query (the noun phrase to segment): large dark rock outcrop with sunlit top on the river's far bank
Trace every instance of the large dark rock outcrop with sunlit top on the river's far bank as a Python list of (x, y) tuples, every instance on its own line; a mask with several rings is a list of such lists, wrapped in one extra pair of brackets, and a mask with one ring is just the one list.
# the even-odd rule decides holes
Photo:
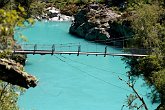
[(104, 5), (89, 4), (75, 15), (69, 32), (87, 40), (106, 40), (111, 36), (109, 22), (119, 17)]

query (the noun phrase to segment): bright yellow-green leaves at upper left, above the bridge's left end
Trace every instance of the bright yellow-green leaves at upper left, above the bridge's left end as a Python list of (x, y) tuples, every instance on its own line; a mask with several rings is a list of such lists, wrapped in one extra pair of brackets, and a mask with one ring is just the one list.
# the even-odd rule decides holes
[[(21, 8), (20, 8), (21, 9)], [(16, 10), (3, 10), (0, 9), (0, 48), (8, 48), (13, 45), (13, 33), (15, 26), (23, 27), (24, 18), (20, 17), (20, 14), (25, 14)]]

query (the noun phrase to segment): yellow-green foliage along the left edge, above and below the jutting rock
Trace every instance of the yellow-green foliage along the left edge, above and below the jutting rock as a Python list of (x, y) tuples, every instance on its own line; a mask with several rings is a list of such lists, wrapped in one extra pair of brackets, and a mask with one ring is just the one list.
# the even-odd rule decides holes
[[(27, 14), (23, 7), (14, 4), (14, 2), (8, 5), (8, 2), (7, 0), (0, 0), (0, 3), (3, 3), (0, 4), (0, 7), (3, 7), (0, 9), (0, 58), (11, 59), (10, 49), (15, 44), (13, 38), (15, 27), (26, 27), (24, 22), (33, 23), (33, 20), (25, 19)], [(15, 59), (17, 58), (15, 56)], [(18, 86), (0, 81), (0, 110), (18, 110), (17, 100), (23, 92), (24, 90)]]

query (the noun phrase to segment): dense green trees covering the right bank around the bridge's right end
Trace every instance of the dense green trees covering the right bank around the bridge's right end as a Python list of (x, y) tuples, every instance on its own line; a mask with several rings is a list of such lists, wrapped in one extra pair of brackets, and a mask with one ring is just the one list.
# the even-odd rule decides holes
[[(130, 47), (151, 51), (144, 58), (124, 58), (130, 76), (144, 76), (146, 82), (157, 92), (153, 93), (153, 102), (160, 98), (165, 105), (165, 25), (163, 1), (128, 1), (125, 20), (130, 22), (133, 40)], [(159, 97), (156, 97), (159, 96)]]

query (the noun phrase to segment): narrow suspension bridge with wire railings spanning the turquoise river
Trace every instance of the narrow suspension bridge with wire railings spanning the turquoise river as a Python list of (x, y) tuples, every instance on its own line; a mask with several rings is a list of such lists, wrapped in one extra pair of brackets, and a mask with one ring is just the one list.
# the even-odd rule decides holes
[[(79, 55), (102, 55), (102, 56), (132, 56), (132, 57), (146, 57), (148, 56), (146, 53), (146, 50), (144, 49), (129, 49), (127, 52), (114, 52), (108, 48), (108, 46), (103, 46), (103, 48), (100, 50), (93, 48), (86, 49), (86, 45), (81, 44), (75, 44), (75, 43), (68, 43), (68, 44), (52, 44), (52, 45), (46, 45), (46, 44), (21, 44), (20, 45), (22, 49), (17, 49), (16, 47), (12, 51), (14, 54), (40, 54), (40, 55), (54, 55), (54, 54), (75, 54), (77, 56)], [(128, 49), (125, 49), (128, 50)], [(131, 51), (130, 51), (131, 50)]]

